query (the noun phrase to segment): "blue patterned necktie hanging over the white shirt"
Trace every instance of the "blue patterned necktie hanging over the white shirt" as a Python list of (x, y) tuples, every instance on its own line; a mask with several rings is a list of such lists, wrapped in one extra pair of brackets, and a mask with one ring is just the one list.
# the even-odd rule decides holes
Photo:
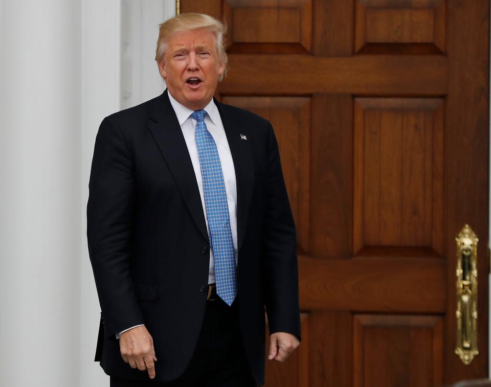
[(237, 294), (234, 242), (230, 229), (224, 175), (221, 172), (220, 157), (215, 140), (206, 128), (206, 114), (203, 109), (196, 110), (192, 113), (191, 118), (196, 120), (194, 137), (198, 148), (206, 214), (215, 259), (216, 293), (228, 305), (232, 305)]

